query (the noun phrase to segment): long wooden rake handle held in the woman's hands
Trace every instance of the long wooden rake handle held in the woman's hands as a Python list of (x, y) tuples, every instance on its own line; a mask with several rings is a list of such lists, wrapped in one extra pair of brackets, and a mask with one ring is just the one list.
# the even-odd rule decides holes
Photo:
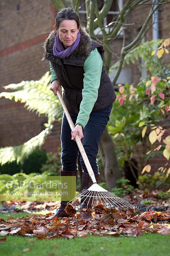
[[(67, 107), (66, 107), (66, 104), (65, 104), (65, 102), (64, 102), (64, 100), (63, 100), (63, 98), (62, 98), (62, 96), (61, 96), (61, 93), (60, 93), (59, 89), (56, 90), (56, 93), (57, 93), (57, 96), (58, 96), (58, 98), (59, 98), (59, 100), (60, 100), (61, 106), (62, 106), (62, 108), (63, 108), (63, 110), (64, 110), (64, 113), (65, 113), (65, 115), (66, 115), (66, 117), (67, 117), (67, 121), (68, 121), (68, 124), (70, 125), (71, 131), (73, 131), (74, 128), (75, 128), (75, 126), (74, 126), (74, 124), (73, 124), (73, 121), (72, 121), (72, 119), (71, 119), (71, 116), (70, 116), (70, 114), (69, 114), (69, 112), (68, 112), (68, 109), (67, 109)], [(88, 171), (88, 173), (89, 173), (89, 175), (90, 175), (90, 178), (91, 178), (92, 182), (93, 182), (93, 183), (97, 183), (97, 182), (96, 182), (95, 175), (94, 175), (94, 172), (93, 172), (93, 169), (91, 168), (89, 159), (88, 159), (88, 157), (87, 157), (87, 155), (86, 155), (86, 152), (85, 152), (85, 150), (84, 150), (84, 148), (83, 148), (83, 145), (82, 145), (82, 143), (81, 143), (81, 140), (80, 140), (80, 137), (79, 137), (78, 134), (75, 135), (75, 141), (76, 141), (77, 146), (78, 146), (78, 148), (79, 148), (79, 150), (80, 150), (81, 156), (82, 156), (82, 158), (83, 158), (84, 164), (86, 165), (87, 171)], [(92, 176), (92, 175), (93, 175), (93, 176)]]

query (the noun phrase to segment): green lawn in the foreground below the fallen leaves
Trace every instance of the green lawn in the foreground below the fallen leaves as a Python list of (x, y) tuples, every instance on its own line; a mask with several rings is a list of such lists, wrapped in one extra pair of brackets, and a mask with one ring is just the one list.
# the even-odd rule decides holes
[[(0, 214), (7, 219), (7, 214)], [(26, 216), (27, 213), (11, 214), (14, 217)], [(134, 237), (88, 236), (73, 239), (54, 238), (36, 240), (23, 236), (8, 236), (6, 243), (0, 244), (3, 256), (166, 256), (169, 253), (169, 236), (159, 234), (143, 234)], [(27, 252), (22, 250), (29, 248)]]

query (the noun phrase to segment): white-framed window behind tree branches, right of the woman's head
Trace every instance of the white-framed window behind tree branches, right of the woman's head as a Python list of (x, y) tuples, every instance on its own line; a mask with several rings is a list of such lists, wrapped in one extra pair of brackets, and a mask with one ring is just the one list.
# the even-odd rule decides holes
[[(98, 10), (101, 11), (104, 4), (104, 0), (97, 0)], [(110, 7), (110, 11), (108, 12), (107, 17), (104, 19), (103, 26), (109, 25), (110, 22), (113, 21), (115, 16), (119, 14), (119, 10), (121, 11), (123, 8), (123, 0), (113, 0), (112, 5)], [(80, 0), (80, 10), (79, 15), (81, 18), (82, 25), (86, 26), (86, 7), (85, 7), (85, 0)], [(109, 27), (105, 28), (105, 31), (109, 32)], [(102, 31), (100, 28), (95, 29), (95, 35), (102, 35)]]

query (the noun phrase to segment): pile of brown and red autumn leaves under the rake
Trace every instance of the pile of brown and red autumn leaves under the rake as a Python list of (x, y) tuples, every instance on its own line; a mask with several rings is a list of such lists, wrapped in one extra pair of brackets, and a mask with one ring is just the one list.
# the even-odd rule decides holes
[[(87, 235), (140, 236), (144, 232), (170, 235), (170, 213), (168, 212), (135, 212), (134, 209), (106, 208), (98, 204), (89, 220), (83, 219), (81, 213), (76, 213), (70, 204), (66, 209), (70, 217), (55, 217), (46, 220), (51, 213), (43, 215), (27, 215), (27, 217), (10, 217), (5, 221), (0, 219), (0, 242), (5, 242), (8, 235), (21, 235), (37, 239), (64, 237), (74, 238)], [(88, 210), (84, 210), (86, 212)]]

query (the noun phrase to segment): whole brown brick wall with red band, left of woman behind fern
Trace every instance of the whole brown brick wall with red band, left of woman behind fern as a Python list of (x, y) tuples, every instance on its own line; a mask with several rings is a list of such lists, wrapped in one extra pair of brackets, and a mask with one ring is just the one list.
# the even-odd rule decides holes
[[(50, 0), (1, 1), (0, 92), (2, 86), (22, 80), (38, 80), (49, 70), (43, 60), (43, 43), (52, 30), (56, 10)], [(2, 36), (3, 35), (3, 36)], [(0, 99), (0, 146), (20, 145), (45, 129), (46, 117), (38, 117), (24, 104)], [(60, 123), (42, 148), (55, 152), (60, 146)]]

